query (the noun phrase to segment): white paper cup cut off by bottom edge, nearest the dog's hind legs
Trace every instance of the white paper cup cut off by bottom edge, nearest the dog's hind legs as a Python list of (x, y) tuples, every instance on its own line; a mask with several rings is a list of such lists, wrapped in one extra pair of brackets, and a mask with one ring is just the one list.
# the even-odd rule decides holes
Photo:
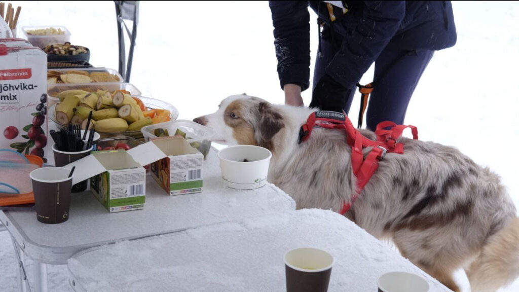
[(378, 278), (378, 292), (427, 292), (424, 278), (407, 272), (389, 272)]

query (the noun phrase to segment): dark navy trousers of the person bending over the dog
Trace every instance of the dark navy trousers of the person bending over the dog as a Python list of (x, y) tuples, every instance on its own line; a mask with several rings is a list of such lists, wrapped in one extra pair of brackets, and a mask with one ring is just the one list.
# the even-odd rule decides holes
[[(334, 38), (330, 38), (330, 31), (323, 31), (323, 38), (321, 39), (322, 58), (316, 58), (313, 73), (312, 86), (314, 88), (325, 73), (326, 66), (338, 51), (341, 41), (340, 35), (335, 34)], [(433, 54), (433, 50), (404, 51), (393, 48), (386, 48), (380, 53), (375, 60), (373, 78), (375, 82), (366, 110), (366, 128), (375, 130), (377, 124), (384, 121), (391, 121), (398, 125), (404, 124), (409, 100), (411, 100), (416, 85)], [(360, 95), (357, 87), (352, 88), (349, 94), (344, 97), (346, 114), (350, 111), (351, 102), (356, 92)], [(359, 110), (359, 108), (360, 103), (356, 110)]]

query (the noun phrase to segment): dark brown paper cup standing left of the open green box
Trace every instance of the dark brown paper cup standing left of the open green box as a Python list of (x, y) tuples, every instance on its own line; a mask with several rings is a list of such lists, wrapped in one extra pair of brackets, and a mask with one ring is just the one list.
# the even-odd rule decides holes
[(62, 167), (42, 167), (31, 171), (36, 218), (55, 224), (69, 219), (72, 177)]

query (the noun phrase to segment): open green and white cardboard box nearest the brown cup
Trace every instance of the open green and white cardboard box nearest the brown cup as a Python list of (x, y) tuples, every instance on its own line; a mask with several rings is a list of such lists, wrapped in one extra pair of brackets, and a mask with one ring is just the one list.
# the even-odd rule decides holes
[(106, 169), (90, 178), (90, 190), (99, 202), (110, 213), (144, 208), (146, 169), (124, 150), (91, 155)]

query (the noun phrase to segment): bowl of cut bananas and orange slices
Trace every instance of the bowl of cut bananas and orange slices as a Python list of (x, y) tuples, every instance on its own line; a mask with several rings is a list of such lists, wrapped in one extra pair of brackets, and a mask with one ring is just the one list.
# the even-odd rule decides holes
[(101, 139), (124, 135), (144, 141), (142, 127), (174, 121), (179, 116), (179, 111), (165, 101), (132, 96), (125, 90), (67, 91), (60, 92), (59, 102), (49, 108), (50, 120), (60, 129), (69, 124), (87, 129), (88, 124)]

